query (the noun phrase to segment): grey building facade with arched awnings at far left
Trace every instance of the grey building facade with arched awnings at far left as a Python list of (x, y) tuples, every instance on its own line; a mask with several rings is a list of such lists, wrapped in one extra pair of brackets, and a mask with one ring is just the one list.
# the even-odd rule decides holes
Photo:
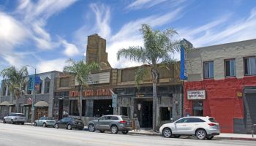
[[(4, 118), (9, 112), (20, 112), (26, 115), (26, 122), (31, 122), (31, 117), (34, 115), (35, 120), (42, 116), (53, 116), (53, 93), (55, 79), (59, 76), (59, 72), (45, 72), (37, 74), (39, 83), (35, 90), (34, 112), (32, 109), (32, 100), (34, 91), (29, 91), (29, 82), (23, 85), (25, 94), (20, 96), (17, 103), (15, 98), (10, 94), (8, 86), (1, 83), (0, 96), (0, 118)], [(29, 77), (27, 77), (29, 80)], [(16, 106), (18, 104), (18, 106)], [(18, 110), (15, 108), (18, 107)]]

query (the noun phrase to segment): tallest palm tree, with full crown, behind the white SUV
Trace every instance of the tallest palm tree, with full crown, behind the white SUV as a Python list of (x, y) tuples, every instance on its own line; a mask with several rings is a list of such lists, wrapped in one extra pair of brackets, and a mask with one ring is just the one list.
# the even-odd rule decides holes
[[(118, 50), (117, 59), (128, 58), (142, 64), (135, 72), (135, 82), (138, 85), (145, 77), (148, 67), (151, 71), (153, 83), (153, 130), (157, 130), (157, 80), (159, 78), (158, 68), (167, 67), (167, 64), (175, 62), (171, 57), (179, 51), (179, 42), (171, 40), (177, 32), (173, 29), (165, 31), (152, 30), (151, 26), (143, 24), (141, 29), (143, 34), (144, 47), (135, 46)], [(147, 67), (148, 66), (148, 67)]]

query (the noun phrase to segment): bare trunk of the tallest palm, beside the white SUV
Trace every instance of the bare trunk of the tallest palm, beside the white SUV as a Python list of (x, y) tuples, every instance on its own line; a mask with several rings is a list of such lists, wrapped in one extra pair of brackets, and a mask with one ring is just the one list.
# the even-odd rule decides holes
[(153, 79), (153, 131), (157, 131), (157, 70), (152, 69)]

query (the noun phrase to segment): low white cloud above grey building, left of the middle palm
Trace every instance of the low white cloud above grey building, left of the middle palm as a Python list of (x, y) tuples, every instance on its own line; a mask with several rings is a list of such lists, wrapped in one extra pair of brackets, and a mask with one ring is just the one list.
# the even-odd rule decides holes
[(67, 58), (57, 58), (50, 61), (40, 61), (37, 64), (37, 70), (41, 72), (60, 71), (62, 72), (66, 65)]

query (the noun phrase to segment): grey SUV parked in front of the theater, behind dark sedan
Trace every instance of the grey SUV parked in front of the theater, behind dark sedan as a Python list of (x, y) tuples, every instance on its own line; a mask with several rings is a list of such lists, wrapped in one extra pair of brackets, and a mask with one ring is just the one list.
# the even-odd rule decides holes
[(99, 130), (103, 133), (110, 130), (113, 134), (117, 134), (118, 131), (128, 134), (132, 130), (132, 121), (124, 115), (104, 115), (98, 120), (90, 121), (88, 128), (91, 132)]

